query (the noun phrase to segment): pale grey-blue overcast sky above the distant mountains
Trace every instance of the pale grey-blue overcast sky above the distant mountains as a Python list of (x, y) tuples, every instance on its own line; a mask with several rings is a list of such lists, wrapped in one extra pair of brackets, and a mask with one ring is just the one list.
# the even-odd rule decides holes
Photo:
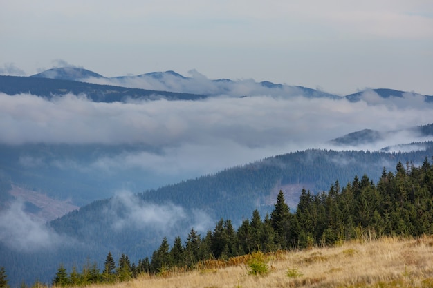
[(346, 95), (433, 95), (433, 2), (0, 0), (0, 74), (195, 69)]

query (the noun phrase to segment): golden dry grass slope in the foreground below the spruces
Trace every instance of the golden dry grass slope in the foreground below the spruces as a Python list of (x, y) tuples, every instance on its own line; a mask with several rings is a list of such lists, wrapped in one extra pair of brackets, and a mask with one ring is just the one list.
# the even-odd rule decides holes
[(243, 257), (230, 264), (220, 262), (164, 277), (141, 276), (109, 288), (433, 287), (433, 236), (383, 238), (363, 244), (353, 241), (340, 247), (273, 253), (268, 255), (267, 276), (248, 275), (247, 260)]

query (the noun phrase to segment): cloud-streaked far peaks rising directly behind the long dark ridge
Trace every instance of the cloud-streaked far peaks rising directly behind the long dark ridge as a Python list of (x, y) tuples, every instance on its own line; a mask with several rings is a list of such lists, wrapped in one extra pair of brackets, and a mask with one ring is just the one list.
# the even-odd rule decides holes
[(304, 96), (327, 97), (341, 99), (342, 97), (325, 93), (319, 90), (302, 86), (288, 86), (285, 84), (274, 84), (270, 81), (256, 82), (248, 80), (231, 79), (207, 79), (196, 71), (192, 77), (185, 77), (172, 70), (165, 72), (151, 72), (136, 76), (104, 77), (83, 68), (53, 68), (31, 77), (42, 77), (49, 79), (62, 79), (71, 81), (84, 81), (93, 84), (110, 84), (128, 88), (145, 88), (150, 90), (164, 90), (176, 93), (193, 93), (199, 95), (230, 95), (234, 97), (273, 95), (273, 96)]

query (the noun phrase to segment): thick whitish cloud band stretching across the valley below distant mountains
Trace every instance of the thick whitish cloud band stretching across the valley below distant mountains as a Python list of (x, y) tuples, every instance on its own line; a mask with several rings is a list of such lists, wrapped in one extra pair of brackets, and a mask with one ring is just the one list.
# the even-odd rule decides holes
[[(101, 156), (86, 167), (61, 160), (50, 165), (107, 173), (144, 169), (166, 176), (168, 181), (306, 148), (374, 151), (410, 143), (420, 140), (419, 135), (403, 131), (356, 147), (328, 142), (365, 128), (385, 132), (432, 122), (433, 104), (419, 95), (383, 99), (370, 91), (362, 99), (349, 102), (264, 95), (108, 104), (91, 102), (85, 95), (69, 94), (48, 101), (28, 94), (1, 94), (0, 141), (12, 145), (145, 144), (154, 148)], [(20, 161), (33, 166), (42, 163), (25, 157)]]

